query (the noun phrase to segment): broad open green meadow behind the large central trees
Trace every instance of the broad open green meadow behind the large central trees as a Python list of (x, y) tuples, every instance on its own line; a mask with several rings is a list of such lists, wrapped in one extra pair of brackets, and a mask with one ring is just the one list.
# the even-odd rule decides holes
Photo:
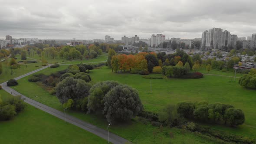
[[(223, 75), (225, 74), (223, 72)], [(144, 79), (141, 75), (115, 73), (106, 67), (95, 69), (90, 75), (93, 83), (115, 80), (137, 89), (147, 111), (158, 112), (165, 105), (176, 105), (180, 101), (208, 101), (233, 105), (244, 111), (245, 123), (237, 128), (220, 125), (212, 127), (256, 138), (256, 91), (241, 87), (238, 79), (234, 82), (233, 78), (214, 75), (204, 75), (203, 79)]]

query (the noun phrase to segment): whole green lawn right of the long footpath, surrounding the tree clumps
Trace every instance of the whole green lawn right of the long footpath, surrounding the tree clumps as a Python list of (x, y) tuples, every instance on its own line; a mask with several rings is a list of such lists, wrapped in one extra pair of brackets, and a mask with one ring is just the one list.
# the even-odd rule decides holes
[[(40, 72), (50, 74), (51, 72), (56, 72), (61, 69), (66, 69), (66, 67), (60, 66), (56, 69), (47, 68)], [(230, 90), (230, 88), (233, 89), (233, 86), (236, 86), (237, 88), (240, 88), (240, 90), (243, 92), (247, 91), (246, 89), (241, 88), (236, 82), (232, 82), (232, 78), (207, 75), (203, 79), (151, 79), (153, 93), (150, 94), (150, 79), (144, 79), (141, 75), (116, 74), (113, 73), (110, 69), (107, 69), (106, 67), (103, 67), (102, 69), (94, 69), (89, 74), (92, 77), (93, 83), (112, 79), (136, 88), (139, 92), (144, 108), (146, 110), (155, 112), (163, 108), (164, 105), (177, 104), (177, 102), (179, 101), (186, 100), (207, 100), (209, 102), (223, 102), (233, 104), (237, 108), (241, 108), (241, 105), (238, 106), (238, 103), (240, 104), (241, 100), (229, 98), (228, 96), (223, 99), (223, 95), (220, 95), (219, 92), (217, 92), (216, 94), (215, 91), (218, 91), (220, 87), (228, 85), (230, 85), (228, 86), (228, 90)], [(39, 101), (45, 105), (49, 105), (61, 111), (63, 110), (58, 98), (50, 95), (46, 90), (41, 88), (36, 83), (28, 82), (27, 78), (28, 77), (18, 80), (19, 85), (13, 88), (16, 89), (18, 92), (30, 98), (33, 98), (36, 101)], [(30, 90), (28, 90), (27, 88), (33, 89), (33, 92), (30, 92)], [(240, 92), (240, 94), (243, 92)], [(251, 93), (252, 96), (252, 92), (254, 91), (248, 93)], [(232, 92), (231, 95), (234, 93), (235, 92)], [(223, 126), (213, 127), (220, 128), (222, 130), (232, 131), (234, 133), (239, 132), (239, 134), (241, 135), (248, 135), (253, 137), (253, 134), (255, 134), (256, 131), (254, 129), (255, 125), (253, 124), (253, 122), (255, 121), (253, 118), (255, 118), (255, 116), (252, 115), (252, 105), (253, 102), (251, 101), (249, 106), (242, 108), (243, 111), (245, 111), (246, 113), (246, 124), (243, 124), (243, 126), (240, 126), (236, 129)], [(100, 116), (85, 115), (82, 112), (75, 111), (69, 111), (69, 114), (89, 123), (95, 124), (100, 128), (107, 128), (107, 121), (105, 121), (105, 118), (102, 118)], [(164, 131), (159, 133), (154, 138), (153, 131), (158, 131), (158, 128), (151, 126), (151, 124), (142, 124), (140, 121), (138, 121), (137, 118), (133, 119), (133, 121), (128, 124), (112, 125), (110, 131), (135, 143), (156, 143), (157, 141), (163, 141), (163, 143), (167, 141), (175, 141), (176, 143), (181, 143), (182, 141), (185, 141), (185, 143), (195, 144), (210, 143), (207, 139), (199, 137), (191, 132), (181, 134), (181, 130), (176, 128), (164, 128)], [(171, 139), (169, 137), (168, 133), (170, 131), (174, 133), (174, 139)], [(245, 132), (245, 134), (243, 134), (243, 132)], [(184, 139), (182, 135), (186, 135)], [(214, 141), (211, 142), (214, 143)]]

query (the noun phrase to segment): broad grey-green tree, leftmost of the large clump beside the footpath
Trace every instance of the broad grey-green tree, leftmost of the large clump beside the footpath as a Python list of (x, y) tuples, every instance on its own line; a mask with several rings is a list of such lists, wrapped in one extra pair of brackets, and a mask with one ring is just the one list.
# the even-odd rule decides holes
[(62, 104), (66, 103), (69, 99), (77, 102), (89, 95), (91, 87), (90, 83), (82, 79), (67, 77), (56, 86), (56, 96)]

